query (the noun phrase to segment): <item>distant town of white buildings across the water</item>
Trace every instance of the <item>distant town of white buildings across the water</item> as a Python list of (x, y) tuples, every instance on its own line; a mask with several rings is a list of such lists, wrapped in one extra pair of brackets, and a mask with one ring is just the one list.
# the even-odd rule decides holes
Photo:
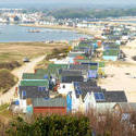
[[(132, 16), (118, 17), (118, 20), (127, 20)], [(133, 18), (136, 18), (133, 16)], [(57, 18), (44, 11), (29, 11), (24, 9), (0, 9), (0, 23), (9, 24), (37, 24), (37, 25), (65, 25), (71, 27), (91, 27), (92, 22), (114, 21), (115, 17), (96, 18), (96, 17), (65, 17)], [(89, 24), (89, 22), (91, 22)]]

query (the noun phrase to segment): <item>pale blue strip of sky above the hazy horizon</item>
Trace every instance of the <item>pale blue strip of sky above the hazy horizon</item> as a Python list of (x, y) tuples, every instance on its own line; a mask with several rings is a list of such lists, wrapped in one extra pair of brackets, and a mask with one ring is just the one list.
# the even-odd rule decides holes
[[(15, 7), (15, 8), (21, 8), (25, 4), (25, 7), (32, 8), (32, 7), (46, 7), (47, 4), (52, 4), (53, 7), (64, 7), (64, 5), (108, 5), (108, 7), (123, 7), (127, 5), (136, 8), (136, 0), (0, 0), (0, 8), (4, 7)], [(99, 8), (99, 7), (98, 7)]]

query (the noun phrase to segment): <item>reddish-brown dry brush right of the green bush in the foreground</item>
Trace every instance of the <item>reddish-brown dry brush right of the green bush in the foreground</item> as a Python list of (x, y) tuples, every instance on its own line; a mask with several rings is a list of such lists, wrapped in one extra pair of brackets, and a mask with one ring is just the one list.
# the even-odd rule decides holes
[(95, 110), (90, 110), (87, 114), (96, 136), (136, 136), (135, 112), (129, 113), (126, 120), (123, 120), (122, 115), (110, 111), (97, 113)]

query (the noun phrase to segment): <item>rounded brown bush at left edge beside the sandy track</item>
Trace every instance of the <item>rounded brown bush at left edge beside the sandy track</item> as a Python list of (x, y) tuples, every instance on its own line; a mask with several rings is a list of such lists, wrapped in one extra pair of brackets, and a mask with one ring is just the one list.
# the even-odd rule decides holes
[(0, 70), (0, 89), (5, 92), (16, 84), (16, 78), (9, 70)]

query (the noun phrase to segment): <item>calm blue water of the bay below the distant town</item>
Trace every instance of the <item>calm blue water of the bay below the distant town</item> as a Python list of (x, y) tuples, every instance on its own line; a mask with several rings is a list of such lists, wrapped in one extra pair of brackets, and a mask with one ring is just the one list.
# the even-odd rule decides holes
[[(28, 29), (40, 29), (40, 33), (28, 33)], [(81, 37), (87, 38), (88, 36), (71, 30), (0, 24), (0, 42), (72, 40)]]

